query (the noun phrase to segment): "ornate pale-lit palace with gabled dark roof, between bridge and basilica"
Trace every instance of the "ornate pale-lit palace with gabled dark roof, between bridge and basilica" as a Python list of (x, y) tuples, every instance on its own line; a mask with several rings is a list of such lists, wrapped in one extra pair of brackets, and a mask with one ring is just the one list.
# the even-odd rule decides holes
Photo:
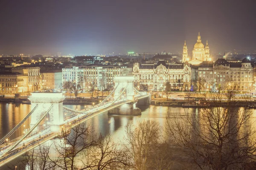
[(162, 90), (166, 81), (170, 81), (172, 88), (188, 89), (191, 79), (191, 68), (188, 62), (183, 64), (166, 63), (160, 59), (154, 64), (134, 63), (134, 78), (151, 90)]

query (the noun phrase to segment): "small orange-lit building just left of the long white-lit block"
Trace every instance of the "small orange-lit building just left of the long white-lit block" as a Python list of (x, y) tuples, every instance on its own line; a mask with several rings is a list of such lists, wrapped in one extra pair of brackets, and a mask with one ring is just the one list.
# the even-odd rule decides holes
[(45, 89), (62, 89), (62, 72), (44, 71), (41, 73), (42, 88)]

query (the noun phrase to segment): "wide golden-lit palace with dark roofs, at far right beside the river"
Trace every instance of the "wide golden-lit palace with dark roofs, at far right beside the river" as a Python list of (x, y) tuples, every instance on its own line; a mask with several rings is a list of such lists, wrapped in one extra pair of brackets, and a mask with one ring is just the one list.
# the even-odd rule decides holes
[(255, 67), (248, 59), (242, 62), (228, 62), (221, 58), (213, 65), (200, 66), (198, 78), (205, 79), (204, 90), (214, 90), (217, 85), (224, 83), (235, 84), (240, 91), (253, 91)]

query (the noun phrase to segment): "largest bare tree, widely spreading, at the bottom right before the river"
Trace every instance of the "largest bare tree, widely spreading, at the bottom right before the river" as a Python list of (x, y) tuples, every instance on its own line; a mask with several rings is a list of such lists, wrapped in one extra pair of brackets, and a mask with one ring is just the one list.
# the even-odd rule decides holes
[(198, 114), (173, 114), (166, 123), (169, 142), (200, 169), (243, 169), (256, 160), (252, 111), (234, 107), (235, 91), (233, 87), (225, 94), (211, 93), (212, 108), (201, 109)]

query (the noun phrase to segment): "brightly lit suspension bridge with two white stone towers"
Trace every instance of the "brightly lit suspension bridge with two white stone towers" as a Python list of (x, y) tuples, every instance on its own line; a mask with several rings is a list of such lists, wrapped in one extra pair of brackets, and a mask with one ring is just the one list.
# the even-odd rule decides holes
[(134, 77), (115, 77), (114, 82), (113, 91), (102, 102), (81, 111), (64, 107), (63, 93), (32, 93), (31, 112), (0, 139), (0, 167), (94, 116), (125, 104), (132, 111), (139, 99), (150, 97), (134, 88)]

